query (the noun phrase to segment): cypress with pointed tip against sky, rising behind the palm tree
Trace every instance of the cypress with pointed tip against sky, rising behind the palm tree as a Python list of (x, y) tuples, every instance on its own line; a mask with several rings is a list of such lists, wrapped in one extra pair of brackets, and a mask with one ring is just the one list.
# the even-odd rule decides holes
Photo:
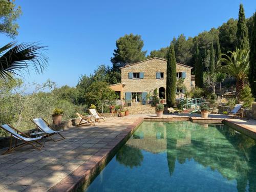
[(248, 38), (248, 29), (245, 20), (244, 7), (240, 4), (239, 16), (238, 16), (238, 49), (248, 49), (249, 48), (249, 38)]

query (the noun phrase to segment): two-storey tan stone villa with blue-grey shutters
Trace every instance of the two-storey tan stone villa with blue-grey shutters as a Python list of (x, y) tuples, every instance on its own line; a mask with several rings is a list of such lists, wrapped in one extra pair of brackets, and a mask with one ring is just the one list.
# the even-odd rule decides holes
[[(165, 99), (167, 60), (150, 58), (131, 65), (121, 67), (121, 83), (112, 84), (114, 90), (122, 100), (146, 102), (147, 93), (153, 94), (157, 88), (159, 98)], [(177, 79), (184, 78), (184, 86), (189, 91), (194, 86), (191, 79), (192, 67), (176, 63)], [(184, 89), (177, 89), (177, 97), (183, 96)]]

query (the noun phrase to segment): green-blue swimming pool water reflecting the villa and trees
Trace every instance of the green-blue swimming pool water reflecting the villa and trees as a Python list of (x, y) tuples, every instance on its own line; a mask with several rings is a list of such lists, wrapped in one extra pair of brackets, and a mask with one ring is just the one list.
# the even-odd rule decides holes
[(86, 191), (256, 191), (256, 142), (223, 124), (143, 122)]

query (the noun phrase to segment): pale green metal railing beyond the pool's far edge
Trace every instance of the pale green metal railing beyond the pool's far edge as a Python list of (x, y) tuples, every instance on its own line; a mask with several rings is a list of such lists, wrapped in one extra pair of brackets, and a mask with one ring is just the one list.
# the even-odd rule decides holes
[(197, 111), (201, 110), (201, 104), (204, 104), (205, 100), (201, 98), (195, 98), (195, 99), (183, 99), (180, 100), (180, 106), (183, 111), (183, 109), (190, 109), (191, 111)]

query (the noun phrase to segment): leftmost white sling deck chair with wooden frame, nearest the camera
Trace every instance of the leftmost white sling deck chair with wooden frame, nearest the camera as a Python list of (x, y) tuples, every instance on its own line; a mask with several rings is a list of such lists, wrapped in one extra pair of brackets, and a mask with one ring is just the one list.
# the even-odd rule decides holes
[[(36, 138), (31, 138), (28, 135), (22, 133), (21, 131), (18, 131), (17, 129), (15, 129), (14, 127), (12, 127), (9, 124), (3, 124), (3, 125), (0, 125), (0, 127), (3, 130), (5, 130), (11, 134), (9, 148), (2, 155), (6, 154), (6, 153), (10, 153), (13, 150), (20, 148), (22, 146), (25, 146), (27, 144), (33, 146), (36, 150), (41, 150), (41, 148), (44, 146), (43, 144), (38, 142), (42, 138), (42, 136), (36, 137)], [(22, 135), (24, 135), (24, 136), (22, 136)], [(12, 138), (13, 137), (15, 138), (15, 146), (14, 147), (12, 147)], [(23, 142), (17, 145), (17, 140), (21, 140)], [(39, 144), (41, 146), (37, 147), (36, 145), (33, 144), (33, 142), (36, 142), (37, 144)]]

